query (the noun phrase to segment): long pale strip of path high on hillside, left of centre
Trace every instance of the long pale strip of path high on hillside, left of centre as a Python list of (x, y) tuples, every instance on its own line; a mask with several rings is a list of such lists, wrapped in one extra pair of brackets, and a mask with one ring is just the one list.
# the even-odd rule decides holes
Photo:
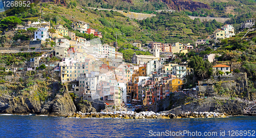
[[(107, 11), (112, 10), (112, 9), (102, 9), (102, 8), (93, 8), (93, 7), (87, 7), (87, 8), (98, 9), (98, 10), (107, 10)], [(156, 16), (156, 14), (145, 14), (145, 13), (136, 13), (136, 12), (127, 12), (127, 13), (125, 13), (123, 11), (118, 11), (118, 10), (112, 10), (112, 11), (119, 12), (119, 13), (123, 14), (126, 17), (137, 19), (137, 20), (142, 20), (142, 19), (146, 19), (147, 17)]]

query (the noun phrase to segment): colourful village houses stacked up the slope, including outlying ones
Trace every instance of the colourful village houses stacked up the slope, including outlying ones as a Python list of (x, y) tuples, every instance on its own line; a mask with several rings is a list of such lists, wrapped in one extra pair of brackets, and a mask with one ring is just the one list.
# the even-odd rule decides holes
[[(190, 43), (151, 42), (148, 47), (152, 49), (153, 56), (134, 53), (133, 64), (129, 64), (123, 62), (123, 55), (116, 51), (116, 47), (101, 43), (91, 44), (90, 41), (75, 36), (75, 33), (69, 32), (61, 24), (54, 27), (56, 32), (51, 36), (48, 32), (49, 22), (27, 24), (27, 27), (31, 26), (40, 26), (34, 32), (34, 40), (45, 41), (47, 38), (55, 37), (52, 40), (56, 45), (54, 51), (31, 58), (27, 70), (35, 70), (36, 67), (45, 64), (42, 58), (56, 56), (62, 59), (57, 64), (47, 66), (59, 71), (61, 82), (68, 83), (72, 91), (82, 96), (84, 100), (100, 99), (107, 104), (133, 102), (151, 105), (169, 96), (170, 93), (181, 91), (183, 78), (194, 73), (186, 62), (181, 64), (166, 62), (177, 59), (175, 53), (187, 53), (193, 49)], [(24, 26), (17, 27), (27, 29)], [(100, 32), (89, 28), (89, 23), (77, 21), (72, 23), (72, 27), (80, 33), (93, 33), (94, 36), (102, 37)], [(232, 25), (224, 25), (223, 31), (224, 37), (230, 37), (231, 35), (227, 35), (225, 31), (231, 33)], [(71, 40), (63, 36), (69, 36)], [(209, 39), (201, 39), (197, 40), (196, 45), (208, 43)], [(134, 43), (134, 46), (140, 48), (141, 44)], [(167, 53), (167, 56), (160, 57), (160, 53)], [(215, 54), (207, 54), (203, 59), (214, 62)], [(222, 70), (224, 73), (230, 71), (230, 67), (226, 65), (219, 65), (214, 69)]]

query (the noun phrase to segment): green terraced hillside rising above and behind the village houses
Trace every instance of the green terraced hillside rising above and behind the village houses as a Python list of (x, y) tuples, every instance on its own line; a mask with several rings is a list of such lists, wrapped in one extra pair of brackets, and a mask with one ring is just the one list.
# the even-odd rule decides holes
[[(197, 18), (192, 20), (187, 16), (190, 14), (199, 15), (199, 13), (200, 16), (203, 16), (210, 14), (209, 10), (212, 9), (209, 9), (208, 11), (202, 9), (200, 12), (191, 12), (188, 10), (180, 12), (154, 12), (156, 14), (154, 17), (144, 20), (132, 20), (116, 11), (86, 8), (84, 7), (86, 6), (83, 3), (84, 1), (44, 2), (45, 3), (39, 3), (30, 9), (15, 8), (9, 10), (6, 14), (2, 13), (0, 17), (3, 19), (6, 15), (14, 15), (22, 19), (22, 21), (24, 21), (23, 24), (26, 21), (33, 22), (38, 19), (51, 21), (52, 26), (61, 23), (70, 31), (75, 32), (77, 36), (87, 38), (88, 40), (93, 39), (94, 37), (84, 36), (72, 29), (72, 22), (81, 20), (90, 23), (91, 28), (102, 32), (102, 43), (112, 45), (113, 42), (116, 41), (117, 37), (119, 47), (128, 49), (138, 49), (137, 47), (132, 46), (132, 43), (135, 41), (140, 41), (142, 44), (146, 44), (151, 41), (159, 41), (163, 43), (184, 42), (194, 44), (197, 39), (206, 38), (207, 35), (211, 34), (223, 25), (223, 23), (217, 22), (216, 20), (200, 21)], [(105, 4), (106, 2), (102, 1), (102, 3)], [(141, 3), (138, 1), (138, 3), (134, 5), (139, 6), (140, 4)], [(212, 5), (219, 7), (220, 5), (222, 6), (225, 4), (212, 3)], [(240, 27), (240, 23), (249, 17), (253, 17), (253, 14), (244, 13), (236, 17), (232, 16), (231, 20), (228, 20), (227, 23), (233, 24), (236, 29), (238, 29)], [(133, 53), (123, 49), (119, 51), (123, 52), (124, 55), (127, 53)], [(137, 54), (150, 54), (142, 51), (134, 52)], [(126, 62), (130, 62), (130, 58), (130, 54), (124, 56)]]

